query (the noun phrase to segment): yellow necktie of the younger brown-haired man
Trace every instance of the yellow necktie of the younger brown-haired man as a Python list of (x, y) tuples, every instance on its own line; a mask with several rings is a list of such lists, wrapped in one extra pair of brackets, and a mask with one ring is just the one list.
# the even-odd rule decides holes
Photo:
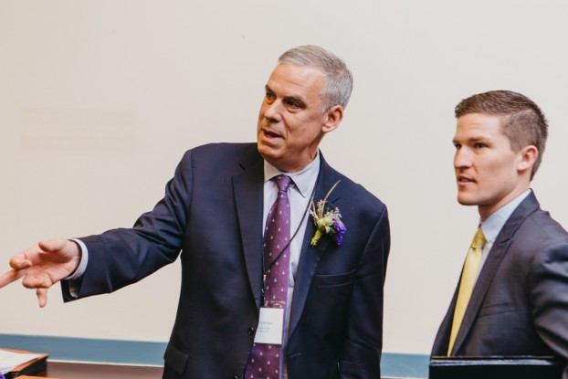
[(454, 342), (456, 342), (456, 336), (458, 335), (459, 326), (461, 325), (464, 313), (468, 308), (469, 298), (471, 297), (471, 292), (473, 291), (473, 287), (475, 286), (476, 278), (478, 276), (479, 264), (481, 263), (481, 255), (485, 242), (485, 236), (483, 236), (483, 231), (479, 226), (478, 232), (471, 242), (471, 247), (469, 247), (468, 257), (466, 257), (466, 262), (464, 263), (464, 268), (461, 274), (461, 281), (459, 282), (458, 300), (456, 301), (456, 310), (454, 311), (452, 332), (449, 335), (447, 356), (449, 356), (452, 352)]

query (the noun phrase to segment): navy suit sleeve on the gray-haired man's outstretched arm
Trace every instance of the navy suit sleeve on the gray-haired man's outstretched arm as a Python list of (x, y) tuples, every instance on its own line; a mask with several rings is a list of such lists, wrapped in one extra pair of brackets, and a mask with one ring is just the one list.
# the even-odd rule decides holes
[[(152, 274), (179, 255), (191, 204), (191, 151), (185, 153), (174, 178), (166, 184), (165, 195), (151, 212), (131, 228), (119, 228), (100, 235), (81, 237), (89, 250), (83, 277), (75, 282), (79, 297), (109, 293)], [(70, 296), (62, 282), (64, 300)]]

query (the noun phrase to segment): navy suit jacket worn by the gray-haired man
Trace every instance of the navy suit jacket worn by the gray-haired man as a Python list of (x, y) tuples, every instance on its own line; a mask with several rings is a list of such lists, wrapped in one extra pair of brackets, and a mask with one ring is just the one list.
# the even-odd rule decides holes
[[(390, 247), (386, 207), (321, 159), (315, 200), (347, 227), (342, 246), (308, 223), (295, 278), (289, 379), (379, 378), (383, 286)], [(262, 276), (263, 160), (253, 143), (185, 153), (163, 199), (130, 229), (81, 238), (89, 265), (79, 297), (111, 292), (173, 262), (182, 288), (163, 378), (243, 374), (258, 325)], [(301, 211), (301, 210), (300, 210)], [(67, 284), (63, 283), (68, 297)]]

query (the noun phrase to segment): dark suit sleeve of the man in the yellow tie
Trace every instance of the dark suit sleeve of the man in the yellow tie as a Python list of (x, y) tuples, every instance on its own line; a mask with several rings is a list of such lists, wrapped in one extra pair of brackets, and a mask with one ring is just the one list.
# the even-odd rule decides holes
[[(534, 263), (529, 284), (536, 330), (555, 353), (568, 360), (568, 243), (548, 248)], [(563, 378), (568, 379), (568, 365)]]

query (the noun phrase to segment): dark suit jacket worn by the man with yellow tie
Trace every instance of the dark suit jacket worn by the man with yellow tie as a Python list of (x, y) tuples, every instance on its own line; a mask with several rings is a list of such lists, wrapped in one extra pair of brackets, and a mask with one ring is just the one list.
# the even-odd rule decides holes
[[(432, 355), (447, 355), (457, 294)], [(452, 355), (568, 359), (568, 234), (534, 194), (512, 213), (489, 251)]]

